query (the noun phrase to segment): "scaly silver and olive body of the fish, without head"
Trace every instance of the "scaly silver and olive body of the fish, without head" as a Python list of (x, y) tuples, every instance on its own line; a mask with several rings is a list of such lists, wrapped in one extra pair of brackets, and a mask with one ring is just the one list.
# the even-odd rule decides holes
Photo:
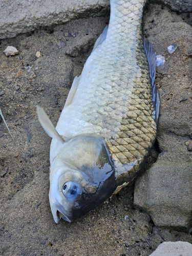
[[(69, 139), (86, 133), (101, 135), (119, 185), (136, 176), (157, 130), (141, 27), (144, 4), (111, 1), (106, 38), (84, 65), (73, 100), (56, 126)], [(52, 146), (55, 143), (53, 139)]]

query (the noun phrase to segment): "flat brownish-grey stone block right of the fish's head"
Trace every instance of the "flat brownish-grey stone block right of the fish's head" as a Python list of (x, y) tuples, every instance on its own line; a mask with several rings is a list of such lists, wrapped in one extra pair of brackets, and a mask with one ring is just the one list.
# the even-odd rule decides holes
[(137, 179), (134, 203), (148, 212), (156, 226), (187, 231), (192, 214), (191, 180), (191, 161), (159, 160)]

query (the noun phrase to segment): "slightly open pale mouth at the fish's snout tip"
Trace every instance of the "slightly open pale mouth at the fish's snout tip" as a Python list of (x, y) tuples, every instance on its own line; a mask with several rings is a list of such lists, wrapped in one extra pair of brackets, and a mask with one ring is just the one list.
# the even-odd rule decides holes
[(56, 201), (52, 205), (51, 210), (52, 210), (54, 221), (56, 223), (59, 223), (61, 218), (65, 221), (71, 222), (70, 220), (71, 214), (68, 211), (66, 211), (58, 201)]

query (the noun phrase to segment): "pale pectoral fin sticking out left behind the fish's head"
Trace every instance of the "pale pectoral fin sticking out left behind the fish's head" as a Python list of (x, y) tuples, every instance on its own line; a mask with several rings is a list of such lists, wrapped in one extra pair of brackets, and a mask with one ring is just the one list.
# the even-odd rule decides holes
[(36, 109), (37, 109), (37, 116), (38, 116), (39, 122), (43, 127), (43, 129), (46, 131), (46, 133), (49, 135), (49, 137), (55, 138), (57, 140), (60, 140), (62, 143), (64, 143), (65, 141), (58, 134), (53, 123), (51, 122), (51, 120), (49, 119), (45, 111), (38, 105), (36, 105)]

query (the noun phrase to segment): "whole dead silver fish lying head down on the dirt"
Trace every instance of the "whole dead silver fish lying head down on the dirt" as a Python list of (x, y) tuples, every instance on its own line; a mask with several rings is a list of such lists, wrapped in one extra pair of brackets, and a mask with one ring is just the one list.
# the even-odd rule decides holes
[(54, 221), (71, 222), (137, 176), (159, 117), (156, 56), (142, 35), (144, 0), (111, 0), (109, 27), (75, 77), (52, 137), (49, 200)]

